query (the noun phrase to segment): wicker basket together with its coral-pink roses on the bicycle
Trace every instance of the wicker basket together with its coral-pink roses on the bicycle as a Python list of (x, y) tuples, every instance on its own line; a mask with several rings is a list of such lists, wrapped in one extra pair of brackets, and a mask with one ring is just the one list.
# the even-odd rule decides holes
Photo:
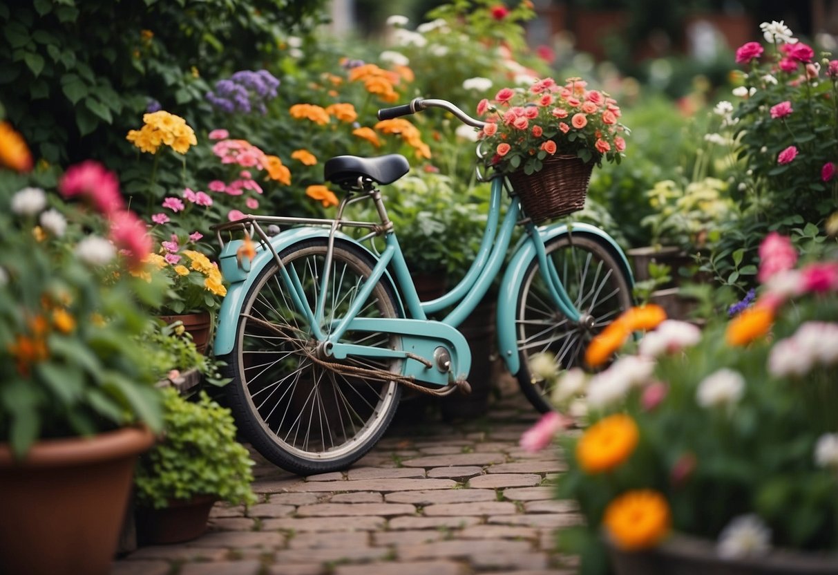
[(536, 222), (581, 210), (594, 164), (619, 163), (629, 133), (617, 101), (581, 78), (502, 88), (477, 113), (489, 122), (478, 132), (484, 166), (510, 178)]

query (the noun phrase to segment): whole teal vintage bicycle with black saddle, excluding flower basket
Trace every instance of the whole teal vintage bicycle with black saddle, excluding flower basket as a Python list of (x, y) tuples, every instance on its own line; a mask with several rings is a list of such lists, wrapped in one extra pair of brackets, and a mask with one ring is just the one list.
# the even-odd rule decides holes
[[(430, 107), (484, 126), (437, 99), (378, 117)], [(581, 365), (592, 336), (632, 305), (629, 262), (610, 236), (582, 223), (536, 225), (499, 175), (472, 266), (450, 292), (420, 301), (378, 188), (407, 174), (406, 158), (339, 156), (324, 171), (345, 192), (334, 220), (247, 215), (215, 226), (230, 283), (215, 335), (233, 380), (228, 405), (253, 447), (283, 469), (307, 475), (353, 464), (385, 433), (405, 386), (468, 391), (471, 354), (457, 327), (502, 270), (499, 354), (541, 412), (551, 409), (550, 390), (530, 375), (530, 357), (551, 352), (561, 369)], [(345, 219), (357, 202), (372, 202), (378, 220)], [(517, 226), (523, 233), (508, 253)]]

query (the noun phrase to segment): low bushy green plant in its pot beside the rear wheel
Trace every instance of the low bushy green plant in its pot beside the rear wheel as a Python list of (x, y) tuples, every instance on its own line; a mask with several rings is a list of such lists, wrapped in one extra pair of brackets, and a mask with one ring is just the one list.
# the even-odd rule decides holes
[(163, 435), (134, 476), (141, 545), (200, 536), (216, 501), (256, 503), (254, 463), (235, 433), (230, 410), (205, 391), (189, 401), (173, 387), (163, 389)]

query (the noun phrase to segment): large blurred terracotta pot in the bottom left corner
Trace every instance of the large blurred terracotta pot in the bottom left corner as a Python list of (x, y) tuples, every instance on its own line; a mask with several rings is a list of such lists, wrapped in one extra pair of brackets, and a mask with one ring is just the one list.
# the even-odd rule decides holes
[(127, 427), (44, 440), (23, 461), (0, 444), (0, 573), (110, 572), (134, 463), (153, 442)]

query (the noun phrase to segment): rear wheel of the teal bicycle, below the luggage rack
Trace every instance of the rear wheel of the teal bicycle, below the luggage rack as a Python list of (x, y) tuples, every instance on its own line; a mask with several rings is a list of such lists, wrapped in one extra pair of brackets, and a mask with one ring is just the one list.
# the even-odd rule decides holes
[[(321, 295), (327, 251), (327, 240), (318, 238), (279, 254), (288, 271), (296, 272), (312, 309)], [(335, 241), (323, 298), (324, 332), (344, 316), (374, 263), (359, 246)], [(241, 433), (265, 458), (293, 473), (345, 469), (385, 433), (401, 396), (395, 381), (370, 381), (353, 370), (397, 374), (401, 360), (318, 354), (318, 341), (293, 307), (277, 262), (260, 272), (244, 301), (234, 350), (222, 358), (233, 378), (228, 399)], [(381, 281), (358, 316), (391, 318), (399, 310), (390, 283)], [(401, 338), (385, 333), (348, 332), (341, 341), (401, 349)]]

